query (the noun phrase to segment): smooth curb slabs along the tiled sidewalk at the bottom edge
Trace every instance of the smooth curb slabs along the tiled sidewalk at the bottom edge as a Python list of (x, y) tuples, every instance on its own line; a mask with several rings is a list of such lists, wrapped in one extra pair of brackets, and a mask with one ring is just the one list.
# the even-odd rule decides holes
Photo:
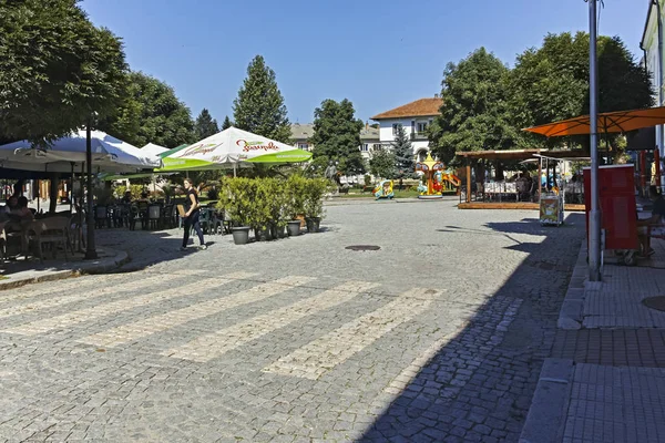
[(563, 440), (573, 371), (573, 360), (545, 359), (520, 443), (554, 443)]

